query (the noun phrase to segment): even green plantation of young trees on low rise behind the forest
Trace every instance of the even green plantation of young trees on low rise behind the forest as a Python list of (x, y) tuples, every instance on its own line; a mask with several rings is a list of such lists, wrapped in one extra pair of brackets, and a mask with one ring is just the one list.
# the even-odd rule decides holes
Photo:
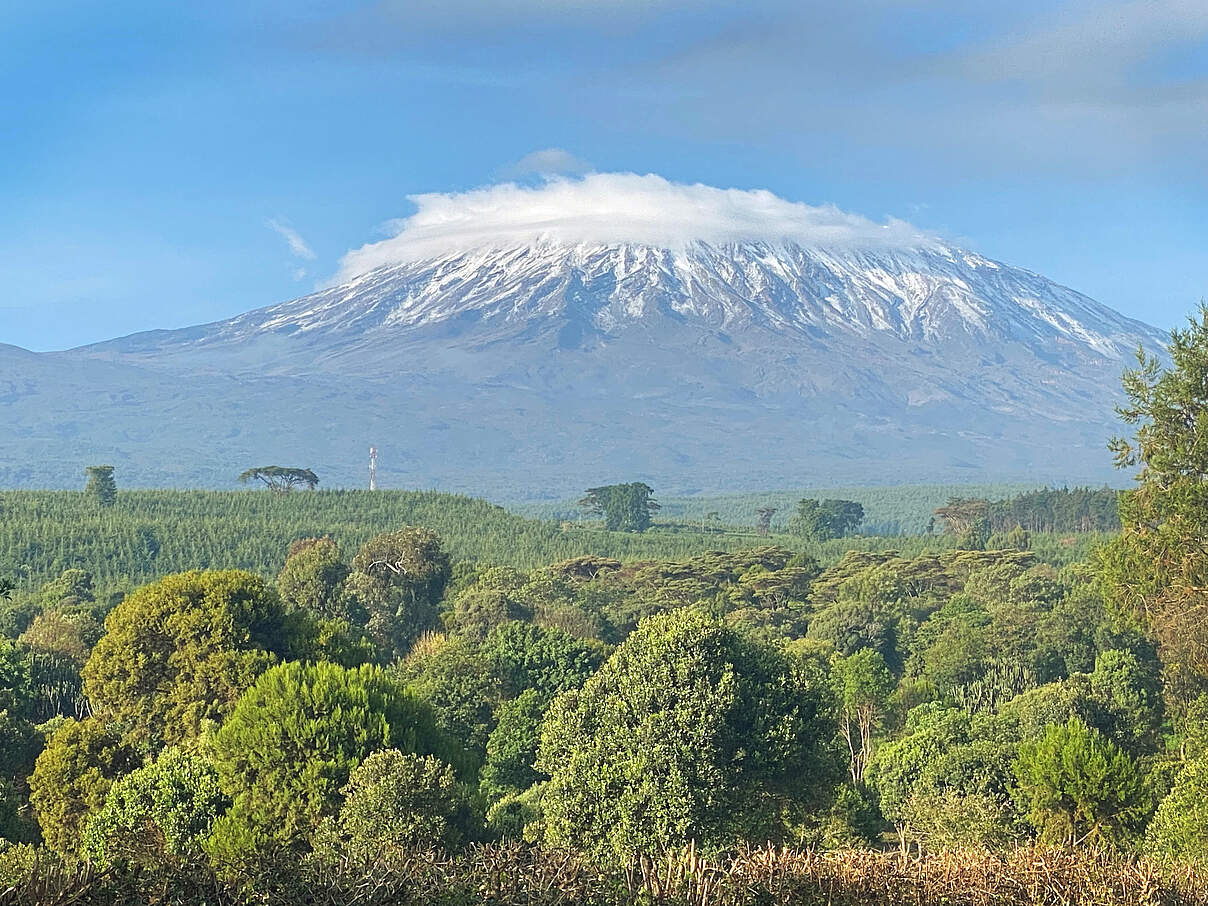
[[(585, 554), (676, 559), (769, 542), (831, 563), (848, 550), (918, 554), (958, 542), (935, 535), (811, 544), (783, 529), (761, 538), (754, 525), (734, 522), (676, 521), (656, 523), (643, 534), (605, 532), (591, 523), (525, 518), (484, 500), (432, 490), (121, 490), (116, 503), (104, 507), (80, 492), (7, 490), (0, 492), (0, 576), (34, 588), (66, 569), (85, 569), (101, 593), (186, 569), (246, 569), (272, 576), (297, 539), (330, 536), (355, 550), (402, 525), (436, 532), (454, 559), (517, 568)], [(1082, 556), (1096, 538), (1033, 535), (1030, 546), (1059, 564)]]

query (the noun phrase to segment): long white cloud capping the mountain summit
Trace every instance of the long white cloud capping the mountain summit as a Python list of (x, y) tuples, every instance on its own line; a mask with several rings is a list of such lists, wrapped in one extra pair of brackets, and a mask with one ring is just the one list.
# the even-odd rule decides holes
[(819, 248), (918, 248), (935, 239), (900, 220), (877, 223), (832, 205), (786, 202), (763, 190), (714, 188), (634, 173), (592, 173), (541, 186), (503, 184), (410, 196), (417, 210), (394, 236), (344, 255), (337, 279), (383, 265), (474, 249), (541, 243), (794, 242)]

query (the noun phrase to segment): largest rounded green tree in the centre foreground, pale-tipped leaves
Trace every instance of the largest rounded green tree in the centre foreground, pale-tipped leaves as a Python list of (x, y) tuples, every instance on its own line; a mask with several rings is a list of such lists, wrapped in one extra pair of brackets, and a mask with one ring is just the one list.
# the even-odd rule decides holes
[(830, 789), (818, 678), (692, 609), (650, 617), (557, 698), (538, 768), (547, 838), (600, 859), (784, 836)]

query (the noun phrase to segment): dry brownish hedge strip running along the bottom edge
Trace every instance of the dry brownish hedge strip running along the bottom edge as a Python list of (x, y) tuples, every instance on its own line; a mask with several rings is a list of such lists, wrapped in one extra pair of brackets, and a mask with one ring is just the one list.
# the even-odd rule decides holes
[[(25, 859), (0, 870), (4, 906), (1206, 906), (1208, 875), (1150, 863), (1020, 849), (920, 861), (871, 852), (755, 849), (710, 861), (692, 850), (605, 871), (562, 850), (472, 847), (364, 864), (291, 863), (219, 882), (204, 871), (104, 873)], [(2, 854), (0, 854), (2, 869)], [(10, 887), (5, 889), (4, 884)]]

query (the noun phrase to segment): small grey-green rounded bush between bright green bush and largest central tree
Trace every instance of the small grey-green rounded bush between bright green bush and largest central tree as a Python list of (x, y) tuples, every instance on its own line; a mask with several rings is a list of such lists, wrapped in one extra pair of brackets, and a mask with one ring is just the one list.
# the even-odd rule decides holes
[(453, 768), (431, 755), (376, 751), (353, 771), (344, 794), (339, 830), (362, 861), (452, 849), (471, 829), (465, 789)]

